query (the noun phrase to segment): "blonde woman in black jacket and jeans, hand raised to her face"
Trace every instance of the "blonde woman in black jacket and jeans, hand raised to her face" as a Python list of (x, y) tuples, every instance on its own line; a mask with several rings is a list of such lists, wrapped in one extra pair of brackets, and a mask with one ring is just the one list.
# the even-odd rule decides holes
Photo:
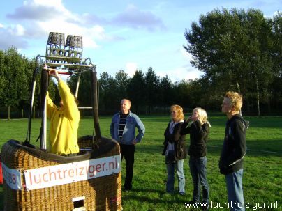
[[(193, 122), (189, 125), (190, 120)], [(187, 127), (188, 125), (188, 127)], [(193, 109), (193, 114), (182, 125), (181, 134), (190, 134), (189, 166), (193, 178), (193, 200), (200, 201), (202, 185), (202, 202), (209, 205), (209, 184), (207, 182), (207, 136), (211, 125), (207, 121), (207, 112), (202, 108)]]

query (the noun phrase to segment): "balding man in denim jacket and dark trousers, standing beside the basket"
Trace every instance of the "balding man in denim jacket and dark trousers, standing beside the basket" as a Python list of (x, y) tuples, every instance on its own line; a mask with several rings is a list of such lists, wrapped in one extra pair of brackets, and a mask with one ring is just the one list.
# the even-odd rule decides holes
[[(145, 127), (142, 121), (130, 109), (131, 101), (127, 99), (121, 100), (121, 111), (114, 114), (110, 125), (112, 139), (119, 142), (121, 147), (121, 160), (123, 157), (126, 159), (125, 191), (132, 189), (135, 144), (141, 141), (145, 133)], [(137, 136), (135, 136), (136, 127), (138, 128)]]

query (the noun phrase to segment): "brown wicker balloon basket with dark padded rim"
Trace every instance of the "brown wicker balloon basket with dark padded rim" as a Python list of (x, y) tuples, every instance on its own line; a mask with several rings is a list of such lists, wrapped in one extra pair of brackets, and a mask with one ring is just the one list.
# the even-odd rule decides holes
[[(91, 146), (91, 141), (92, 136), (83, 136), (78, 143), (80, 148), (84, 148)], [(22, 183), (22, 189), (12, 189), (4, 179), (4, 210), (122, 210), (120, 171), (89, 180), (30, 190), (27, 190), (24, 178), (27, 170), (119, 155), (119, 144), (112, 139), (102, 138), (98, 148), (87, 153), (81, 151), (75, 157), (45, 153), (15, 140), (7, 141), (1, 151), (2, 163), (9, 169), (19, 171)]]

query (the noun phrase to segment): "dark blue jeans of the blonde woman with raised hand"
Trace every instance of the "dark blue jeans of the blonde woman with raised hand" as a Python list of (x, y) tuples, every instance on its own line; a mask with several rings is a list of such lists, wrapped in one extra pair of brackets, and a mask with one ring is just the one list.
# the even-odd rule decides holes
[(193, 201), (200, 201), (200, 185), (202, 185), (202, 202), (209, 204), (209, 184), (207, 183), (207, 157), (190, 157), (189, 166), (194, 186)]

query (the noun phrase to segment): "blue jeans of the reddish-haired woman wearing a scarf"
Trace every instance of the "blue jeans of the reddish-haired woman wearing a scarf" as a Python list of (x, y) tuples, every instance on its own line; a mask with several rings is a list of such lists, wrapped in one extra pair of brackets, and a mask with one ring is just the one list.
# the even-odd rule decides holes
[(168, 171), (168, 180), (166, 182), (166, 192), (173, 194), (175, 190), (175, 170), (178, 178), (178, 191), (179, 193), (185, 193), (185, 175), (183, 171), (184, 159), (177, 160), (175, 163), (166, 164)]

